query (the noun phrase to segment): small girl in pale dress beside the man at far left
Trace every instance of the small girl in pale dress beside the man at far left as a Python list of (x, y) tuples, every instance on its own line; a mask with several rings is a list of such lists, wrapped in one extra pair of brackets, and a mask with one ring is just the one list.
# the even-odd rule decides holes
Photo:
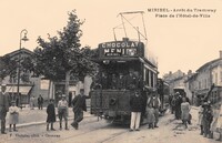
[(16, 106), (16, 101), (11, 101), (11, 106), (9, 108), (9, 132), (11, 132), (11, 125), (13, 125), (13, 131), (17, 132), (17, 123), (19, 122), (19, 108)]

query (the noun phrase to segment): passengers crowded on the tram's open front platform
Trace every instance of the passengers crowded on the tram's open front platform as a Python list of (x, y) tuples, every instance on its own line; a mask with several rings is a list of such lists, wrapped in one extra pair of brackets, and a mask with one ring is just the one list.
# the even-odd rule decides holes
[(101, 78), (97, 78), (91, 84), (91, 89), (97, 89), (97, 84), (102, 85), (101, 88), (112, 89), (112, 90), (134, 90), (138, 89), (140, 85), (140, 78), (133, 69), (129, 70), (129, 74), (123, 74), (122, 72), (118, 73), (110, 73), (107, 72), (101, 73)]

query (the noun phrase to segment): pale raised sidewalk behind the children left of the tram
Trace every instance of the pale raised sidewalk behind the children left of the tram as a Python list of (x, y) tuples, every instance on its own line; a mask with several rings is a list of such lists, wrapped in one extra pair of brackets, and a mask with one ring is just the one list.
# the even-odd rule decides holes
[[(58, 114), (58, 110), (56, 109), (56, 114)], [(84, 112), (84, 118), (92, 116), (88, 112)], [(9, 113), (7, 114), (7, 129), (9, 127), (8, 124)], [(73, 112), (72, 108), (69, 108), (69, 116), (68, 120), (73, 120)], [(57, 116), (57, 121), (59, 121), (59, 118)], [(42, 110), (39, 110), (38, 108), (34, 108), (34, 110), (30, 110), (30, 108), (23, 108), (19, 112), (19, 123), (17, 124), (18, 127), (29, 126), (29, 125), (38, 125), (38, 124), (44, 124), (47, 123), (47, 108), (43, 108)]]

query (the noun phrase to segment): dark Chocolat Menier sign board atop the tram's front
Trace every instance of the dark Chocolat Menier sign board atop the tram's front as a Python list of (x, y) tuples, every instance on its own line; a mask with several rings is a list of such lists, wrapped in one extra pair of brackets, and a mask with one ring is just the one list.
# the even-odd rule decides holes
[(139, 42), (113, 41), (99, 44), (100, 57), (138, 57)]

